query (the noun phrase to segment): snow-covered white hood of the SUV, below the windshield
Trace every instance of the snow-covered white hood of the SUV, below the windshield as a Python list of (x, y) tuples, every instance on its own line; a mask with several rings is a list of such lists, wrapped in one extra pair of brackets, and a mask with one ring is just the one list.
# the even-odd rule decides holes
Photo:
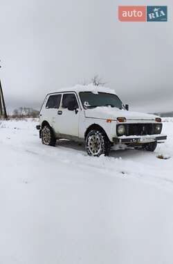
[(96, 107), (84, 110), (85, 117), (100, 119), (117, 119), (117, 117), (125, 117), (127, 120), (155, 120), (156, 115), (120, 110), (111, 107)]

